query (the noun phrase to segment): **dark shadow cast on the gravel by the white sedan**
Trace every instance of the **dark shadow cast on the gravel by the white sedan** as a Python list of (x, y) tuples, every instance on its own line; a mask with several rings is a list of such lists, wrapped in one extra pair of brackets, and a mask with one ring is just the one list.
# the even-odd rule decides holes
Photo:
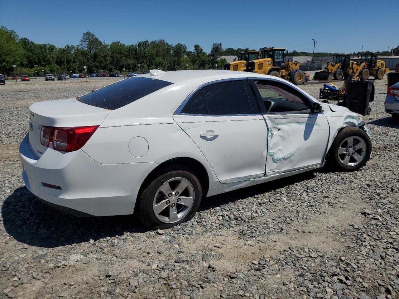
[[(200, 211), (277, 190), (314, 177), (313, 172), (302, 173), (207, 197)], [(2, 204), (3, 225), (6, 232), (18, 242), (43, 248), (55, 248), (87, 242), (90, 239), (121, 236), (148, 231), (135, 220), (134, 215), (79, 218), (47, 207), (25, 187), (15, 189)]]

